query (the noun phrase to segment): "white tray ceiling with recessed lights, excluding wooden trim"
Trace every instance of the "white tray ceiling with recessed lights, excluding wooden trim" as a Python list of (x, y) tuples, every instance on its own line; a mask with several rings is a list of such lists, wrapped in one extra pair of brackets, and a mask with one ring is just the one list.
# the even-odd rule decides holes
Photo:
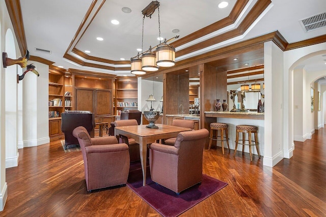
[[(160, 0), (160, 30), (161, 37), (167, 39), (175, 36), (172, 29), (179, 29), (180, 38), (195, 32), (209, 24), (228, 16), (236, 0), (226, 0), (229, 6), (226, 9), (218, 8), (221, 0)], [(242, 0), (239, 0), (242, 1)], [(96, 2), (96, 1), (95, 1)], [(97, 6), (103, 3), (93, 20), (89, 20), (89, 26), (83, 35), (77, 36), (75, 48), (80, 51), (90, 50), (88, 55), (110, 60), (120, 60), (137, 55), (137, 48), (141, 47), (142, 40), (142, 10), (150, 3), (148, 0), (98, 0)], [(236, 28), (237, 24), (250, 12), (257, 0), (250, 0), (242, 11), (237, 22), (214, 32), (208, 36), (197, 39), (189, 44), (197, 43), (208, 37), (219, 35), (227, 30)], [(326, 11), (325, 0), (271, 0), (272, 4), (264, 11), (256, 22), (242, 36), (217, 44), (213, 47), (180, 56), (177, 60), (205, 53), (228, 44), (248, 40), (278, 30), (288, 43), (303, 41), (317, 36), (326, 35), (326, 28), (320, 28), (310, 33), (305, 33), (298, 20), (307, 18)], [(63, 55), (73, 42), (79, 25), (83, 22), (92, 0), (29, 0), (20, 1), (22, 17), (28, 49), (31, 55), (39, 56), (54, 61), (55, 66), (63, 66), (65, 69), (83, 69), (96, 72), (131, 75), (127, 71), (109, 71), (98, 68), (79, 66), (63, 58)], [(122, 12), (123, 7), (131, 9), (131, 13)], [(31, 13), (33, 12), (33, 13)], [(159, 43), (157, 9), (152, 18), (145, 18), (144, 50)], [(94, 13), (92, 11), (92, 13)], [(92, 15), (91, 13), (91, 15)], [(113, 25), (112, 19), (120, 21), (119, 25)], [(84, 26), (85, 27), (85, 26)], [(97, 41), (96, 37), (102, 37), (103, 41)], [(35, 48), (50, 50), (51, 54), (36, 52)], [(180, 50), (182, 47), (177, 47)], [(80, 59), (68, 50), (68, 53)], [(325, 53), (326, 54), (326, 53)], [(325, 56), (315, 56), (302, 64), (306, 71), (326, 70)], [(83, 59), (84, 61), (90, 60)], [(95, 61), (93, 61), (95, 63)]]

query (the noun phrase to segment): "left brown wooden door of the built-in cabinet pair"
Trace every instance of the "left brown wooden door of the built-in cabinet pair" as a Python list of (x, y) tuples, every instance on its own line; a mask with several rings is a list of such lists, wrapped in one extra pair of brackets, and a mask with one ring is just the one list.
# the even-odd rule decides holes
[(94, 89), (76, 88), (76, 92), (75, 92), (76, 110), (94, 112), (93, 95), (94, 95)]

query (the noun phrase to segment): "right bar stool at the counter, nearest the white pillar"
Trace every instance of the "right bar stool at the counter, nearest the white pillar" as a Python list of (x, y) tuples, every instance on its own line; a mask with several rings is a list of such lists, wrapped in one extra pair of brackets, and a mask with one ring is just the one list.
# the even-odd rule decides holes
[[(243, 154), (244, 145), (249, 145), (250, 161), (253, 161), (251, 146), (255, 145), (256, 149), (257, 149), (258, 157), (260, 159), (260, 153), (259, 153), (259, 148), (258, 148), (259, 142), (258, 142), (258, 136), (257, 136), (258, 127), (252, 126), (252, 125), (237, 125), (235, 127), (235, 129), (236, 129), (236, 136), (235, 136), (235, 149), (234, 149), (233, 157), (235, 156), (236, 150), (238, 148), (238, 144), (242, 145), (242, 154)], [(242, 133), (242, 143), (239, 142), (239, 134), (240, 133)], [(248, 140), (245, 139), (246, 133), (248, 133)], [(252, 143), (253, 142), (251, 139), (252, 133), (255, 136), (255, 140), (254, 140), (255, 144)], [(248, 141), (248, 144), (246, 144), (245, 141)]]

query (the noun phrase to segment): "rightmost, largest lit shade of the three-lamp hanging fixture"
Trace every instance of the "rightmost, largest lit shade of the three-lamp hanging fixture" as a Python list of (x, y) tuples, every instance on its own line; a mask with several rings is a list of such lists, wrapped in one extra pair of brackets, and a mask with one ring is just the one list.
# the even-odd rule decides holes
[(156, 48), (156, 65), (159, 67), (172, 67), (175, 65), (175, 48), (166, 42)]

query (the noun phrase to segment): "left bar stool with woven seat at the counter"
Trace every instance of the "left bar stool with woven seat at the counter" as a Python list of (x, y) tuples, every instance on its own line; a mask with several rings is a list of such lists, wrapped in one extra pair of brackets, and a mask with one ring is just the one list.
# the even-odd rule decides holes
[[(229, 125), (227, 123), (210, 123), (210, 135), (209, 135), (209, 145), (208, 149), (210, 149), (210, 146), (212, 144), (212, 140), (216, 140), (216, 146), (218, 145), (218, 141), (221, 141), (222, 145), (222, 153), (224, 154), (224, 143), (223, 141), (226, 141), (228, 144), (228, 148), (230, 151), (230, 146), (229, 146), (229, 133), (228, 133), (228, 128)], [(214, 131), (216, 131), (216, 137), (213, 136)], [(219, 131), (221, 131), (221, 136), (218, 136)], [(225, 136), (223, 136), (223, 132), (225, 132)], [(221, 139), (218, 139), (220, 137)]]

